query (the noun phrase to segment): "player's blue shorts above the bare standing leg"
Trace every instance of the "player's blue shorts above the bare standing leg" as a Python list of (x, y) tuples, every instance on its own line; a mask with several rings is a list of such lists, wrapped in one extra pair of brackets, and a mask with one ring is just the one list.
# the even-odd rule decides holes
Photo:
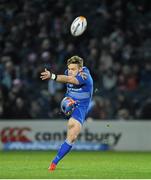
[(74, 119), (79, 121), (81, 125), (83, 125), (85, 118), (86, 118), (86, 115), (87, 115), (87, 112), (88, 112), (87, 106), (79, 105), (72, 112), (70, 118), (73, 117)]

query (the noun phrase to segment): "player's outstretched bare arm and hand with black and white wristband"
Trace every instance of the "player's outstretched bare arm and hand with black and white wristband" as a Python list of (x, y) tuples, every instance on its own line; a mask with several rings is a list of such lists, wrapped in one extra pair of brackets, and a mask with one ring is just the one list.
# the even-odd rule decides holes
[(76, 85), (79, 84), (79, 81), (74, 76), (56, 75), (48, 71), (46, 68), (45, 68), (45, 71), (41, 73), (40, 78), (42, 80), (52, 79), (61, 83), (70, 83), (70, 84), (76, 84)]

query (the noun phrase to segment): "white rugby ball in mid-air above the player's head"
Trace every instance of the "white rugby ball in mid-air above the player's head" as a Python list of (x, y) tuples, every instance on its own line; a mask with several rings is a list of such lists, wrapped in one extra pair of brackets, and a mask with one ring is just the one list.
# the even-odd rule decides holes
[(73, 36), (80, 36), (87, 28), (87, 20), (84, 16), (74, 19), (71, 24), (70, 31)]

